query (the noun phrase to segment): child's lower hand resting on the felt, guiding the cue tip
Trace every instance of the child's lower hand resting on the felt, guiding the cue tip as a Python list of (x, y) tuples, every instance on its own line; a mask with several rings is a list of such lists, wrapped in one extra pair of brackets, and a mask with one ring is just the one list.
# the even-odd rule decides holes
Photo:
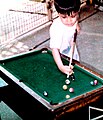
[(73, 73), (73, 65), (71, 65), (70, 67), (67, 65), (63, 65), (62, 67), (60, 67), (59, 69), (61, 70), (61, 72), (67, 74), (67, 75), (71, 75)]

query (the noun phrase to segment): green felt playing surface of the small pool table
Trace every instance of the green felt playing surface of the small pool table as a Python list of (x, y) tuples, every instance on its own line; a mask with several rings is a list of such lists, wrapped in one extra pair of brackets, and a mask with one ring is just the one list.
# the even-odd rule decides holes
[[(64, 60), (64, 64), (68, 64), (68, 61)], [(58, 70), (49, 51), (47, 53), (36, 51), (8, 59), (4, 61), (2, 66), (33, 91), (53, 103), (65, 101), (67, 94), (71, 99), (102, 86), (102, 79), (75, 65), (75, 80), (71, 81), (66, 91), (63, 90), (62, 87), (67, 76)], [(90, 82), (95, 79), (98, 80), (98, 85), (92, 86)], [(70, 87), (74, 88), (74, 93), (69, 92)], [(47, 91), (48, 96), (43, 95), (44, 91)]]

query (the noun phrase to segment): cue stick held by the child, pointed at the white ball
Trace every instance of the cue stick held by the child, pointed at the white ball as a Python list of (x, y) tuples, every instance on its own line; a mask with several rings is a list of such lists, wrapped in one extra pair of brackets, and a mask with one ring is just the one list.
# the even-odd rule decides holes
[[(77, 38), (77, 29), (75, 30), (74, 39), (73, 39), (73, 45), (71, 46), (71, 57), (70, 57), (70, 61), (69, 61), (69, 67), (71, 66), (72, 61), (73, 61), (73, 55), (74, 55), (74, 49), (75, 49), (75, 44), (76, 44), (76, 38)], [(69, 74), (67, 74), (67, 78), (69, 78)]]

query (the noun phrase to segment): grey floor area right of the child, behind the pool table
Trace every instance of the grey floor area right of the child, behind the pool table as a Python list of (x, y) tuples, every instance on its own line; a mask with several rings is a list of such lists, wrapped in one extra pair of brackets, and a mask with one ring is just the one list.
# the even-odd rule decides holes
[(78, 36), (81, 63), (103, 75), (103, 12), (82, 21)]

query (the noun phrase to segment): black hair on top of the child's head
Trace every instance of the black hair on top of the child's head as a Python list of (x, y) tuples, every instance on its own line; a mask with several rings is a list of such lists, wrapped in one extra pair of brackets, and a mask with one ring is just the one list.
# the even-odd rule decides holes
[(58, 13), (70, 15), (80, 9), (80, 0), (54, 0), (54, 6)]

